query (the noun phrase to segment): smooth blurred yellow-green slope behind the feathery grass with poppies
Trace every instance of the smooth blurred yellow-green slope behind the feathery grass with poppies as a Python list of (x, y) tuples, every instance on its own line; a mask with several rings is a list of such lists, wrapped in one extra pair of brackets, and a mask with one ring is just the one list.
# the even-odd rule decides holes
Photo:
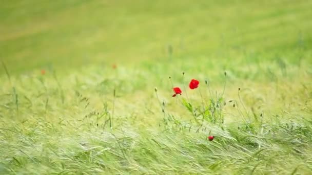
[(168, 48), (194, 60), (274, 56), (308, 49), (311, 7), (312, 1), (3, 1), (0, 57), (11, 73), (24, 73), (158, 60)]

